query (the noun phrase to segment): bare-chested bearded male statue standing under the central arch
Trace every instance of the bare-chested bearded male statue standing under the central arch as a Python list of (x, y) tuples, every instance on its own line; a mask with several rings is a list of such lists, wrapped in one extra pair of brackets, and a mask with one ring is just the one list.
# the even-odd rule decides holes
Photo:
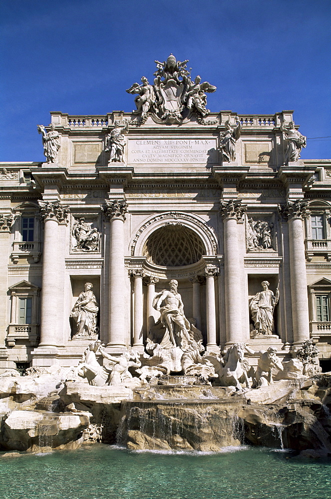
[[(184, 305), (181, 295), (177, 292), (178, 282), (172, 279), (170, 290), (163, 289), (153, 300), (153, 307), (161, 313), (160, 321), (166, 328), (162, 338), (163, 348), (187, 348), (192, 343), (190, 338), (190, 323), (184, 315)], [(162, 305), (164, 302), (164, 305)]]

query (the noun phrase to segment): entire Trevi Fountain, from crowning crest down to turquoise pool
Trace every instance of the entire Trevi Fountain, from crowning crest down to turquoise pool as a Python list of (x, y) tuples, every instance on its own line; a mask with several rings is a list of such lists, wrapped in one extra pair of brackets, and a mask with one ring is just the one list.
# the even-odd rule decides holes
[(329, 497), (331, 161), (155, 63), (1, 163), (0, 493)]

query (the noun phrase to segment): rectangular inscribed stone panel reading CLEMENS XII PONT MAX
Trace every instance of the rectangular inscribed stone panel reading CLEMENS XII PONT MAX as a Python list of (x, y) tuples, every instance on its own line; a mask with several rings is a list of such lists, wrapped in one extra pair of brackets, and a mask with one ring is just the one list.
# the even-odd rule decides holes
[(216, 138), (129, 139), (128, 163), (217, 163)]

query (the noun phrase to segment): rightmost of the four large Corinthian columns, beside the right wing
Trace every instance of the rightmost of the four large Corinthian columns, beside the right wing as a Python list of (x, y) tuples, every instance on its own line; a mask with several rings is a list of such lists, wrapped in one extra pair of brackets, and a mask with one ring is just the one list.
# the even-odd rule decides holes
[(290, 277), (294, 344), (309, 339), (308, 291), (303, 220), (309, 216), (307, 201), (288, 201), (278, 207), (289, 224)]

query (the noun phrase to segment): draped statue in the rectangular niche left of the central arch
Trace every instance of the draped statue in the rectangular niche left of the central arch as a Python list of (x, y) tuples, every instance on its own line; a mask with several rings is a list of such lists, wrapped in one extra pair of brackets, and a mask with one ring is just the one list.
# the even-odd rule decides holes
[(99, 311), (96, 298), (91, 291), (93, 284), (85, 283), (85, 291), (80, 293), (70, 317), (77, 317), (77, 333), (74, 337), (89, 336), (97, 338), (96, 332), (96, 315)]

